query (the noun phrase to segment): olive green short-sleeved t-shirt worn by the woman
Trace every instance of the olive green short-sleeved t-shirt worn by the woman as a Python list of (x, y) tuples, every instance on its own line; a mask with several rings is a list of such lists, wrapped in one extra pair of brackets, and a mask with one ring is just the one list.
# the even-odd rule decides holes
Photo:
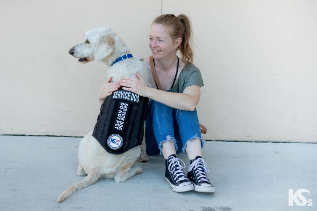
[[(140, 60), (143, 61), (143, 59)], [(187, 86), (204, 86), (200, 70), (194, 64), (187, 64), (179, 73), (178, 81), (175, 81), (175, 83), (173, 88), (165, 91), (183, 93)]]

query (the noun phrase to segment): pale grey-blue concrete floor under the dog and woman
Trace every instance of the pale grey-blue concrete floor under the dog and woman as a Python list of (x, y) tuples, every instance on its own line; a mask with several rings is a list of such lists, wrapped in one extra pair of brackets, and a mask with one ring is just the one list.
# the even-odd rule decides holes
[[(76, 175), (81, 138), (0, 136), (0, 210), (317, 210), (317, 145), (208, 141), (203, 158), (213, 194), (175, 193), (165, 182), (162, 156), (139, 163), (143, 172), (124, 183), (100, 179), (56, 203), (83, 177)], [(181, 153), (178, 155), (186, 163)], [(288, 189), (312, 206), (288, 206)]]

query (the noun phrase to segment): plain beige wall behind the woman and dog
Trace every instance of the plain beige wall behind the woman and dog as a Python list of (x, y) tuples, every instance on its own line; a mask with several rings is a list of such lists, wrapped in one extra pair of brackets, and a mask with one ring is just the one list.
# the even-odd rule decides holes
[[(94, 2), (94, 3), (93, 3)], [(197, 106), (208, 140), (317, 142), (317, 2), (20, 1), (0, 9), (0, 134), (83, 136), (99, 112), (102, 63), (68, 50), (110, 26), (137, 58), (161, 14), (190, 16), (205, 86)]]

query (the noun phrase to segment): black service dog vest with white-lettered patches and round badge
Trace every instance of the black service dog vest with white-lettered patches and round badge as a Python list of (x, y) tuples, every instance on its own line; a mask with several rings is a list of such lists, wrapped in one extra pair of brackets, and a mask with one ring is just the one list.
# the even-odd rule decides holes
[(122, 154), (141, 145), (148, 102), (147, 97), (120, 87), (101, 105), (94, 138), (112, 154)]

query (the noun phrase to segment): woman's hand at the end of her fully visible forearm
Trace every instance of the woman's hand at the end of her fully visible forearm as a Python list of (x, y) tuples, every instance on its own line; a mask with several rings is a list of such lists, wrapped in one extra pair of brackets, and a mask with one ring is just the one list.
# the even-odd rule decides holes
[(120, 85), (122, 86), (122, 89), (131, 91), (140, 96), (147, 97), (149, 87), (146, 85), (145, 81), (139, 75), (139, 73), (136, 73), (136, 76), (138, 78), (131, 78), (131, 77), (122, 78), (119, 81)]

